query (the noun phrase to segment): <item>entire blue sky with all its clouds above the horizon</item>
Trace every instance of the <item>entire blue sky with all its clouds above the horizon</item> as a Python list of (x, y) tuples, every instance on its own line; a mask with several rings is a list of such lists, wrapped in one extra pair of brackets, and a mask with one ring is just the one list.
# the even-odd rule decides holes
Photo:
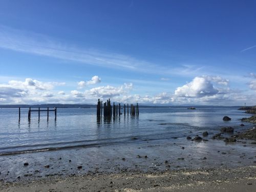
[(0, 0), (0, 104), (256, 104), (256, 1)]

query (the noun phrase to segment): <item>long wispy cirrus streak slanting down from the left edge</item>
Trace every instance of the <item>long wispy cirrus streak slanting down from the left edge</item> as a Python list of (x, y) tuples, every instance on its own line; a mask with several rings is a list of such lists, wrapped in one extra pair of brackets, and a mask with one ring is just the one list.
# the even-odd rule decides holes
[(35, 54), (58, 58), (62, 60), (75, 61), (84, 65), (93, 65), (106, 68), (124, 69), (142, 73), (154, 74), (176, 74), (193, 76), (202, 71), (203, 67), (195, 65), (161, 65), (135, 57), (106, 52), (96, 49), (86, 49), (60, 42), (49, 36), (17, 30), (0, 25), (0, 48), (17, 52)]

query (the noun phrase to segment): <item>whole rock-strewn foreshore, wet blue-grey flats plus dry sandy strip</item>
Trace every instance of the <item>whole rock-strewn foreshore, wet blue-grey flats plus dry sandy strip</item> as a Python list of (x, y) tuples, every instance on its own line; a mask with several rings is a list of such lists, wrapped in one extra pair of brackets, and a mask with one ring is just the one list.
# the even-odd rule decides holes
[(136, 145), (0, 156), (0, 191), (255, 191), (252, 126), (190, 131), (161, 144), (133, 137)]

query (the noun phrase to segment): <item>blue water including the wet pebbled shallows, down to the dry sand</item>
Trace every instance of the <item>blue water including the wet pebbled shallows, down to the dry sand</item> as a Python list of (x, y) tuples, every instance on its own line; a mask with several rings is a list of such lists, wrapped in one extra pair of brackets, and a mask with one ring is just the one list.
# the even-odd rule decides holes
[[(96, 109), (58, 109), (56, 121), (53, 113), (47, 121), (43, 112), (39, 121), (36, 112), (28, 121), (28, 109), (23, 109), (19, 122), (17, 109), (0, 109), (0, 180), (254, 165), (255, 146), (250, 141), (210, 139), (223, 126), (235, 132), (253, 126), (240, 126), (240, 119), (250, 115), (237, 109), (141, 108), (139, 116), (98, 119)], [(223, 121), (225, 115), (232, 120)], [(208, 141), (186, 139), (204, 131)]]

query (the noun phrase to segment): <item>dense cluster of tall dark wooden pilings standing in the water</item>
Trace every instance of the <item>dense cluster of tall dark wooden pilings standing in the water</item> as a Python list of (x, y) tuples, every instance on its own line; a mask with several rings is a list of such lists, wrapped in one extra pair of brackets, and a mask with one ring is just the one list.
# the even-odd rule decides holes
[[(102, 116), (102, 110), (103, 110), (103, 115), (104, 116), (120, 116), (122, 115), (121, 113), (121, 104), (115, 104), (113, 103), (113, 106), (111, 105), (110, 99), (107, 100), (106, 102), (103, 103), (102, 106), (102, 101), (98, 99), (98, 104), (97, 104), (97, 116)], [(123, 105), (123, 113), (124, 115), (126, 114), (126, 105)], [(127, 115), (129, 115), (129, 104), (127, 103)], [(131, 104), (130, 105), (130, 115), (139, 115), (139, 105), (138, 103), (136, 105)]]

